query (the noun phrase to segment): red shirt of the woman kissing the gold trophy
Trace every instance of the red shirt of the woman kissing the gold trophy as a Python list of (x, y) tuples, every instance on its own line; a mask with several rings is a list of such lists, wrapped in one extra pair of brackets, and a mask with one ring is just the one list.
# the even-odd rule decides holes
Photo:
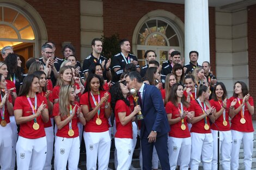
[(117, 103), (115, 103), (115, 125), (117, 127), (115, 137), (132, 138), (132, 121), (128, 122), (126, 125), (122, 125), (118, 116), (119, 112), (126, 112), (125, 116), (129, 116), (131, 114), (131, 108), (127, 106), (123, 100), (117, 100)]

